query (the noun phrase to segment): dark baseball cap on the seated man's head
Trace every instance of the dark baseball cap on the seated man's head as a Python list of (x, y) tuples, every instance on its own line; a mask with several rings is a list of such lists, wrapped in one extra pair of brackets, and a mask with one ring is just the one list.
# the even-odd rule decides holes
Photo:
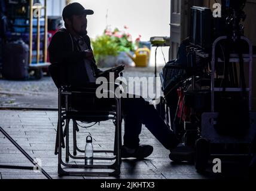
[(93, 14), (93, 10), (86, 10), (83, 5), (79, 4), (78, 2), (73, 2), (71, 4), (66, 5), (66, 7), (63, 9), (62, 11), (62, 17), (63, 20), (65, 20), (66, 18), (69, 18), (71, 16), (78, 16), (81, 14)]

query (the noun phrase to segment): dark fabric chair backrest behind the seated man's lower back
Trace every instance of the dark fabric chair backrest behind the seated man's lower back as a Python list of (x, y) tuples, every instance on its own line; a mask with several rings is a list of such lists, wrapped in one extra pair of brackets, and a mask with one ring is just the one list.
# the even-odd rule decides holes
[(68, 76), (66, 76), (65, 68), (61, 64), (51, 64), (48, 66), (48, 70), (57, 88), (68, 84)]

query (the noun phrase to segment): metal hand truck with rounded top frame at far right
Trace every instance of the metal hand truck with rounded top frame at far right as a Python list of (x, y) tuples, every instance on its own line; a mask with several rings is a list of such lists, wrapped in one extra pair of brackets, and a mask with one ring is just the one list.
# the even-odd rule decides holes
[[(254, 141), (255, 134), (256, 134), (256, 113), (252, 112), (252, 58), (256, 57), (253, 54), (252, 50), (252, 43), (249, 41), (248, 38), (245, 36), (241, 36), (240, 40), (245, 41), (249, 47), (249, 54), (242, 54), (243, 63), (249, 63), (249, 87), (243, 88), (241, 83), (239, 88), (217, 88), (215, 87), (215, 71), (216, 71), (216, 64), (217, 63), (224, 63), (223, 58), (220, 58), (216, 54), (217, 45), (220, 44), (221, 41), (225, 41), (227, 36), (221, 36), (214, 41), (212, 45), (212, 61), (211, 61), (211, 112), (205, 112), (202, 114), (202, 125), (201, 125), (201, 132), (200, 138), (196, 141), (196, 157), (195, 157), (195, 165), (198, 171), (204, 171), (208, 165), (208, 159), (210, 156), (214, 156), (214, 158), (222, 158), (222, 157), (250, 157), (250, 145)], [(197, 55), (208, 57), (206, 54), (202, 54), (202, 52), (197, 52)], [(240, 61), (239, 54), (230, 54), (229, 56), (229, 63), (237, 63)], [(245, 90), (244, 90), (245, 89)], [(240, 127), (241, 134), (240, 135), (232, 135), (230, 134), (220, 134), (216, 128), (218, 123), (218, 116), (220, 113), (216, 112), (215, 107), (215, 96), (217, 93), (221, 92), (228, 92), (228, 93), (243, 93), (243, 91), (248, 94), (248, 108), (249, 108), (249, 128), (244, 130)], [(227, 119), (228, 120), (228, 119)], [(245, 122), (246, 124), (246, 122)], [(228, 128), (228, 130), (233, 131), (232, 127)], [(228, 148), (228, 145), (232, 145), (233, 152), (218, 152), (220, 150), (212, 149), (212, 145), (224, 144), (224, 147)], [(241, 147), (243, 147), (241, 152)], [(248, 146), (246, 148), (246, 145)], [(246, 149), (245, 149), (246, 148)]]

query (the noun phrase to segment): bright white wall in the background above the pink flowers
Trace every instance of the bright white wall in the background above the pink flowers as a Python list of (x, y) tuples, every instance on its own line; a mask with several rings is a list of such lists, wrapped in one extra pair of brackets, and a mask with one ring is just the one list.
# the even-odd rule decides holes
[[(49, 0), (48, 0), (49, 1)], [(55, 0), (54, 0), (55, 1)], [(95, 11), (88, 16), (88, 32), (91, 38), (102, 34), (106, 24), (112, 28), (129, 27), (133, 40), (142, 35), (142, 41), (149, 41), (151, 36), (169, 36), (170, 1), (169, 0), (78, 0), (87, 9)], [(106, 12), (108, 10), (108, 20)], [(151, 53), (151, 66), (154, 65), (154, 51)], [(166, 61), (169, 59), (169, 47), (163, 47)], [(163, 65), (161, 49), (158, 50), (157, 64)]]

